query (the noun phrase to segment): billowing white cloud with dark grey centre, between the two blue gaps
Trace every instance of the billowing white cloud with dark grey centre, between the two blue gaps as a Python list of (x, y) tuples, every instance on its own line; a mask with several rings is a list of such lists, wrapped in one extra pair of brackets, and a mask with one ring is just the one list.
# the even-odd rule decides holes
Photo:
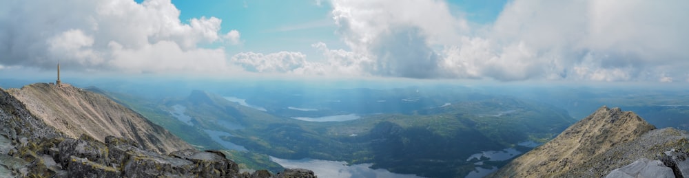
[(333, 1), (337, 34), (356, 52), (375, 59), (370, 74), (409, 78), (438, 76), (433, 44), (459, 39), (466, 21), (442, 1)]

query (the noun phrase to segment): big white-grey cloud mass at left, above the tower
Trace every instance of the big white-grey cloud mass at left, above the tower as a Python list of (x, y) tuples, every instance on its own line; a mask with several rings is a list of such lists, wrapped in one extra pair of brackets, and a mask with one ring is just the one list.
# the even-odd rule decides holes
[(223, 49), (240, 33), (222, 20), (181, 21), (169, 0), (8, 1), (0, 8), (0, 65), (52, 68), (59, 60), (84, 71), (223, 71)]

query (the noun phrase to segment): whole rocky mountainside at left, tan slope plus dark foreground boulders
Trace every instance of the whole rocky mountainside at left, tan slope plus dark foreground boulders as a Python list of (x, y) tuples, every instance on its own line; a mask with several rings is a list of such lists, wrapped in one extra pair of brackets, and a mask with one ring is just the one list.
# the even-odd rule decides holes
[[(130, 113), (116, 113), (121, 111)], [(123, 127), (125, 132), (99, 139), (94, 136), (110, 132), (94, 134), (97, 130), (70, 117), (102, 121), (96, 129)], [(0, 177), (316, 177), (305, 169), (239, 173), (223, 151), (197, 151), (162, 127), (138, 119), (140, 115), (112, 100), (75, 87), (0, 89)], [(172, 143), (160, 144), (165, 142)]]

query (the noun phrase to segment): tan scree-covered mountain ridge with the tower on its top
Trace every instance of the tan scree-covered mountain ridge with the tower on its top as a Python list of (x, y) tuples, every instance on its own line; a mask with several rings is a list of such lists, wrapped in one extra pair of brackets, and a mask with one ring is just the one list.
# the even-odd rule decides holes
[(124, 137), (161, 154), (192, 148), (141, 114), (91, 91), (69, 85), (37, 83), (9, 89), (8, 93), (24, 103), (38, 119), (67, 137), (85, 134), (99, 142), (110, 135)]

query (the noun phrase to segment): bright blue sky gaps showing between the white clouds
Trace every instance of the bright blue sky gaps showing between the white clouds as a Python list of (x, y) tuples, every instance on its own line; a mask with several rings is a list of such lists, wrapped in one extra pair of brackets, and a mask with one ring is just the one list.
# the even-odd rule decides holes
[[(143, 0), (137, 0), (141, 3)], [(448, 1), (455, 16), (466, 16), (474, 23), (493, 23), (505, 0)], [(223, 32), (242, 32), (243, 43), (227, 46), (227, 52), (298, 51), (318, 56), (313, 43), (327, 43), (330, 47), (347, 48), (335, 34), (337, 25), (331, 16), (331, 4), (313, 0), (300, 1), (172, 1), (181, 11), (179, 18), (216, 16), (223, 19)], [(208, 45), (215, 47), (220, 44)]]

